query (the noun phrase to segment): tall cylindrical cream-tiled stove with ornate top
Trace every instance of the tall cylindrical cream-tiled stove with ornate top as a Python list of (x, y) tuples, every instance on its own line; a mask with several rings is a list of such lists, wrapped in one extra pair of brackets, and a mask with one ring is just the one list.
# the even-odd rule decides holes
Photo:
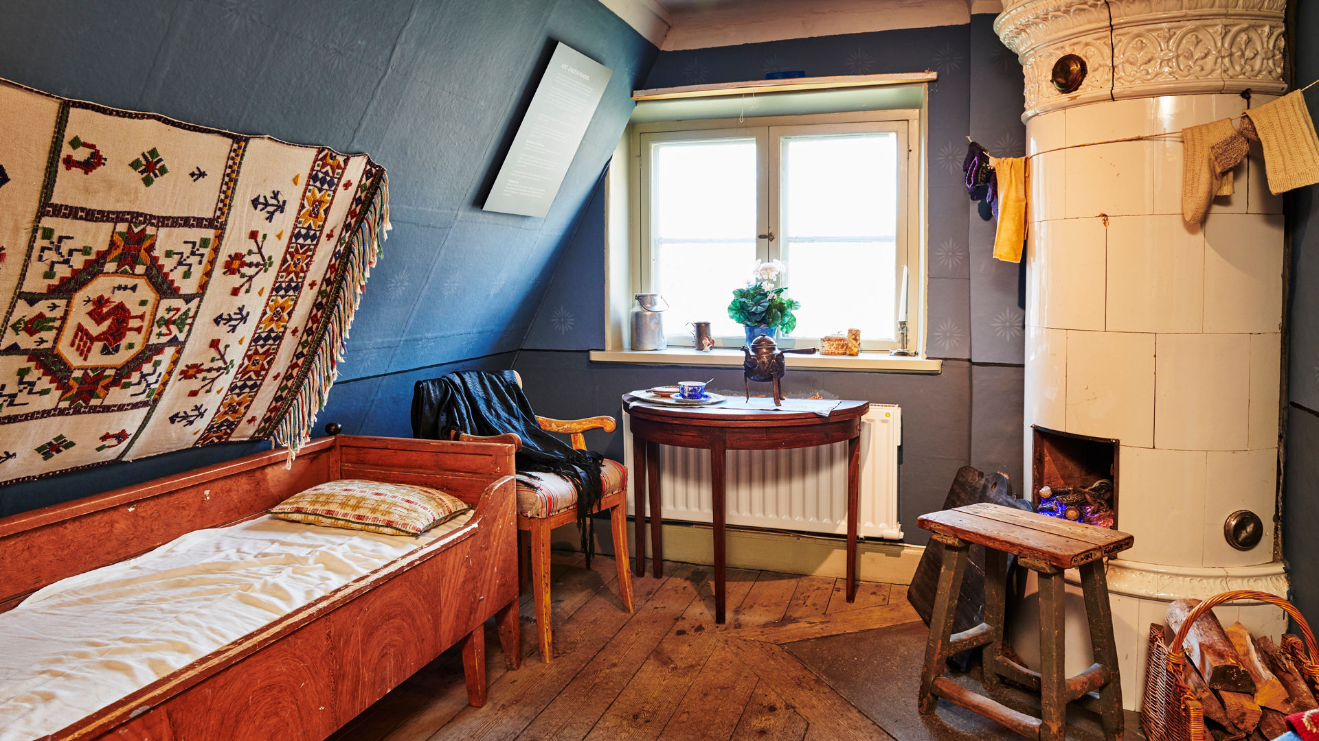
[[(1109, 562), (1108, 583), (1132, 709), (1149, 624), (1163, 622), (1169, 601), (1287, 589), (1273, 533), (1282, 200), (1269, 194), (1254, 145), (1233, 173), (1235, 194), (1216, 198), (1203, 225), (1187, 224), (1179, 137), (1112, 141), (1237, 116), (1248, 107), (1239, 95), (1245, 88), (1250, 105), (1283, 92), (1282, 4), (1179, 5), (1186, 9), (1173, 16), (1130, 0), (1107, 8), (1008, 0), (996, 22), (1026, 74), (1025, 469), (1029, 479), (1031, 425), (1120, 440), (1117, 521), (1136, 546)], [(1227, 44), (1225, 22), (1257, 32), (1258, 63), (1240, 66), (1225, 47), (1195, 57), (1204, 65), (1179, 62), (1190, 58), (1179, 44)], [(1190, 26), (1204, 33), (1181, 33)], [(1149, 53), (1129, 44), (1137, 36), (1171, 46)], [(1082, 55), (1103, 84), (1057, 92), (1049, 73), (1067, 53)], [(1024, 489), (1031, 492), (1031, 481)], [(1266, 529), (1248, 551), (1223, 534), (1239, 509)], [(1286, 626), (1268, 605), (1217, 612), (1273, 636)], [(1071, 672), (1091, 661), (1083, 614), (1068, 624)], [(1033, 646), (1017, 643), (1030, 636), (1022, 625), (1014, 641), (1028, 661)]]

